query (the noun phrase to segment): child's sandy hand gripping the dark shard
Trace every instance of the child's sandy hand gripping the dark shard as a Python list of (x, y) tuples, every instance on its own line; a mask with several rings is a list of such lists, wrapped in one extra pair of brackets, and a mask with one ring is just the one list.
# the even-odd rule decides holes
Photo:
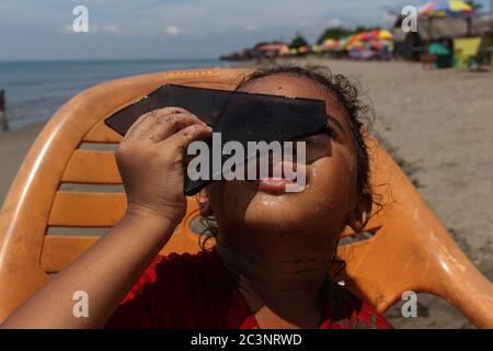
[(186, 211), (183, 194), (186, 148), (210, 133), (205, 123), (179, 107), (140, 116), (115, 152), (127, 193), (127, 213), (177, 225)]

